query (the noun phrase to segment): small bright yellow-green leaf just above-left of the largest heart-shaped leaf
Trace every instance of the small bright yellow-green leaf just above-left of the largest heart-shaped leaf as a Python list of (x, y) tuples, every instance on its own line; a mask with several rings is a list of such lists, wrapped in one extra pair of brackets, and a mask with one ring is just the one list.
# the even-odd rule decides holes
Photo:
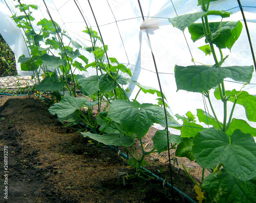
[(197, 133), (203, 131), (204, 128), (202, 125), (199, 125), (195, 122), (188, 122), (186, 119), (183, 119), (183, 125), (181, 128), (181, 137), (195, 137)]

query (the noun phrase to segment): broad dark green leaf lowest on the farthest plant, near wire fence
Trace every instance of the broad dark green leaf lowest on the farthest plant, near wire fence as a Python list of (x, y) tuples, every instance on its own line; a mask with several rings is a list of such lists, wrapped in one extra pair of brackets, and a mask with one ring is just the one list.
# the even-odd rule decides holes
[(39, 91), (60, 91), (63, 89), (64, 83), (59, 80), (58, 75), (54, 72), (51, 77), (46, 75), (44, 80), (42, 80), (35, 88)]

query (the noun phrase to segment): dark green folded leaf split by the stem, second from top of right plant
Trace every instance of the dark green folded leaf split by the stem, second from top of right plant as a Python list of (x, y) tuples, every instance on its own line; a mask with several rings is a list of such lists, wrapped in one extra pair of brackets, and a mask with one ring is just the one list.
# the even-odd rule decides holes
[[(212, 33), (212, 43), (219, 48), (231, 49), (242, 32), (243, 24), (240, 21), (210, 22), (209, 28)], [(202, 23), (193, 23), (188, 30), (194, 42), (204, 37)]]

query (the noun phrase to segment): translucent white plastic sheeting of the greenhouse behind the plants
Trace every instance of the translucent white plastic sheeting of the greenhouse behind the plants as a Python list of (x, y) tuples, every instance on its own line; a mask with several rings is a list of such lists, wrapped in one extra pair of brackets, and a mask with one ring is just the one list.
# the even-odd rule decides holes
[[(24, 0), (20, 2), (38, 6), (38, 10), (33, 10), (32, 13), (36, 22), (43, 18), (50, 19), (42, 0)], [(177, 91), (174, 68), (176, 64), (181, 66), (194, 65), (191, 61), (192, 58), (195, 62), (212, 65), (215, 64), (214, 59), (212, 56), (206, 57), (197, 48), (205, 44), (203, 39), (193, 43), (187, 29), (183, 33), (174, 28), (168, 21), (168, 18), (177, 15), (200, 12), (201, 7), (197, 6), (197, 0), (46, 0), (45, 3), (53, 20), (58, 23), (62, 30), (66, 30), (73, 40), (83, 47), (91, 46), (89, 36), (82, 32), (86, 30), (84, 21), (86, 20), (89, 27), (92, 27), (98, 33), (100, 31), (104, 44), (108, 45), (109, 57), (116, 58), (119, 63), (130, 68), (133, 72), (133, 80), (159, 90), (153, 53), (162, 90), (169, 106), (168, 111), (172, 115), (184, 115), (187, 111), (196, 114), (196, 109), (205, 109), (202, 94), (183, 90)], [(0, 33), (15, 53), (16, 60), (23, 54), (29, 56), (23, 33), (10, 18), (14, 13), (19, 14), (19, 11), (14, 7), (17, 4), (17, 1), (13, 0), (0, 0)], [(255, 48), (256, 1), (241, 0), (241, 4), (251, 36), (252, 47)], [(240, 20), (243, 23), (241, 36), (231, 48), (231, 52), (225, 50), (223, 53), (229, 55), (223, 66), (253, 65), (251, 49), (238, 1), (220, 0), (212, 2), (209, 10), (232, 12), (233, 14), (229, 18), (224, 18), (223, 21)], [(221, 18), (215, 16), (210, 17), (209, 20), (220, 21)], [(89, 62), (94, 60), (90, 53), (82, 50), (80, 53), (89, 58)], [(19, 64), (17, 64), (17, 69), (19, 75), (33, 74), (28, 71), (21, 71)], [(95, 74), (95, 72), (91, 69), (88, 72), (75, 72), (75, 74), (83, 74), (88, 77)], [(243, 90), (256, 95), (255, 85), (256, 76), (254, 71), (251, 84), (246, 85)], [(242, 87), (243, 84), (241, 83), (225, 79), (226, 90), (240, 90)], [(133, 90), (130, 95), (132, 99), (138, 89), (136, 87), (133, 89), (133, 86), (129, 88)], [(212, 92), (211, 90), (211, 95)], [(157, 103), (155, 99), (156, 95), (143, 93), (138, 98), (141, 103), (153, 104)], [(213, 100), (212, 103), (214, 103), (214, 108), (217, 109), (217, 116), (222, 117), (222, 103), (217, 100)], [(233, 117), (247, 120), (242, 106), (237, 105), (235, 112)], [(247, 122), (255, 128), (255, 123)], [(177, 133), (174, 130), (172, 132)]]

